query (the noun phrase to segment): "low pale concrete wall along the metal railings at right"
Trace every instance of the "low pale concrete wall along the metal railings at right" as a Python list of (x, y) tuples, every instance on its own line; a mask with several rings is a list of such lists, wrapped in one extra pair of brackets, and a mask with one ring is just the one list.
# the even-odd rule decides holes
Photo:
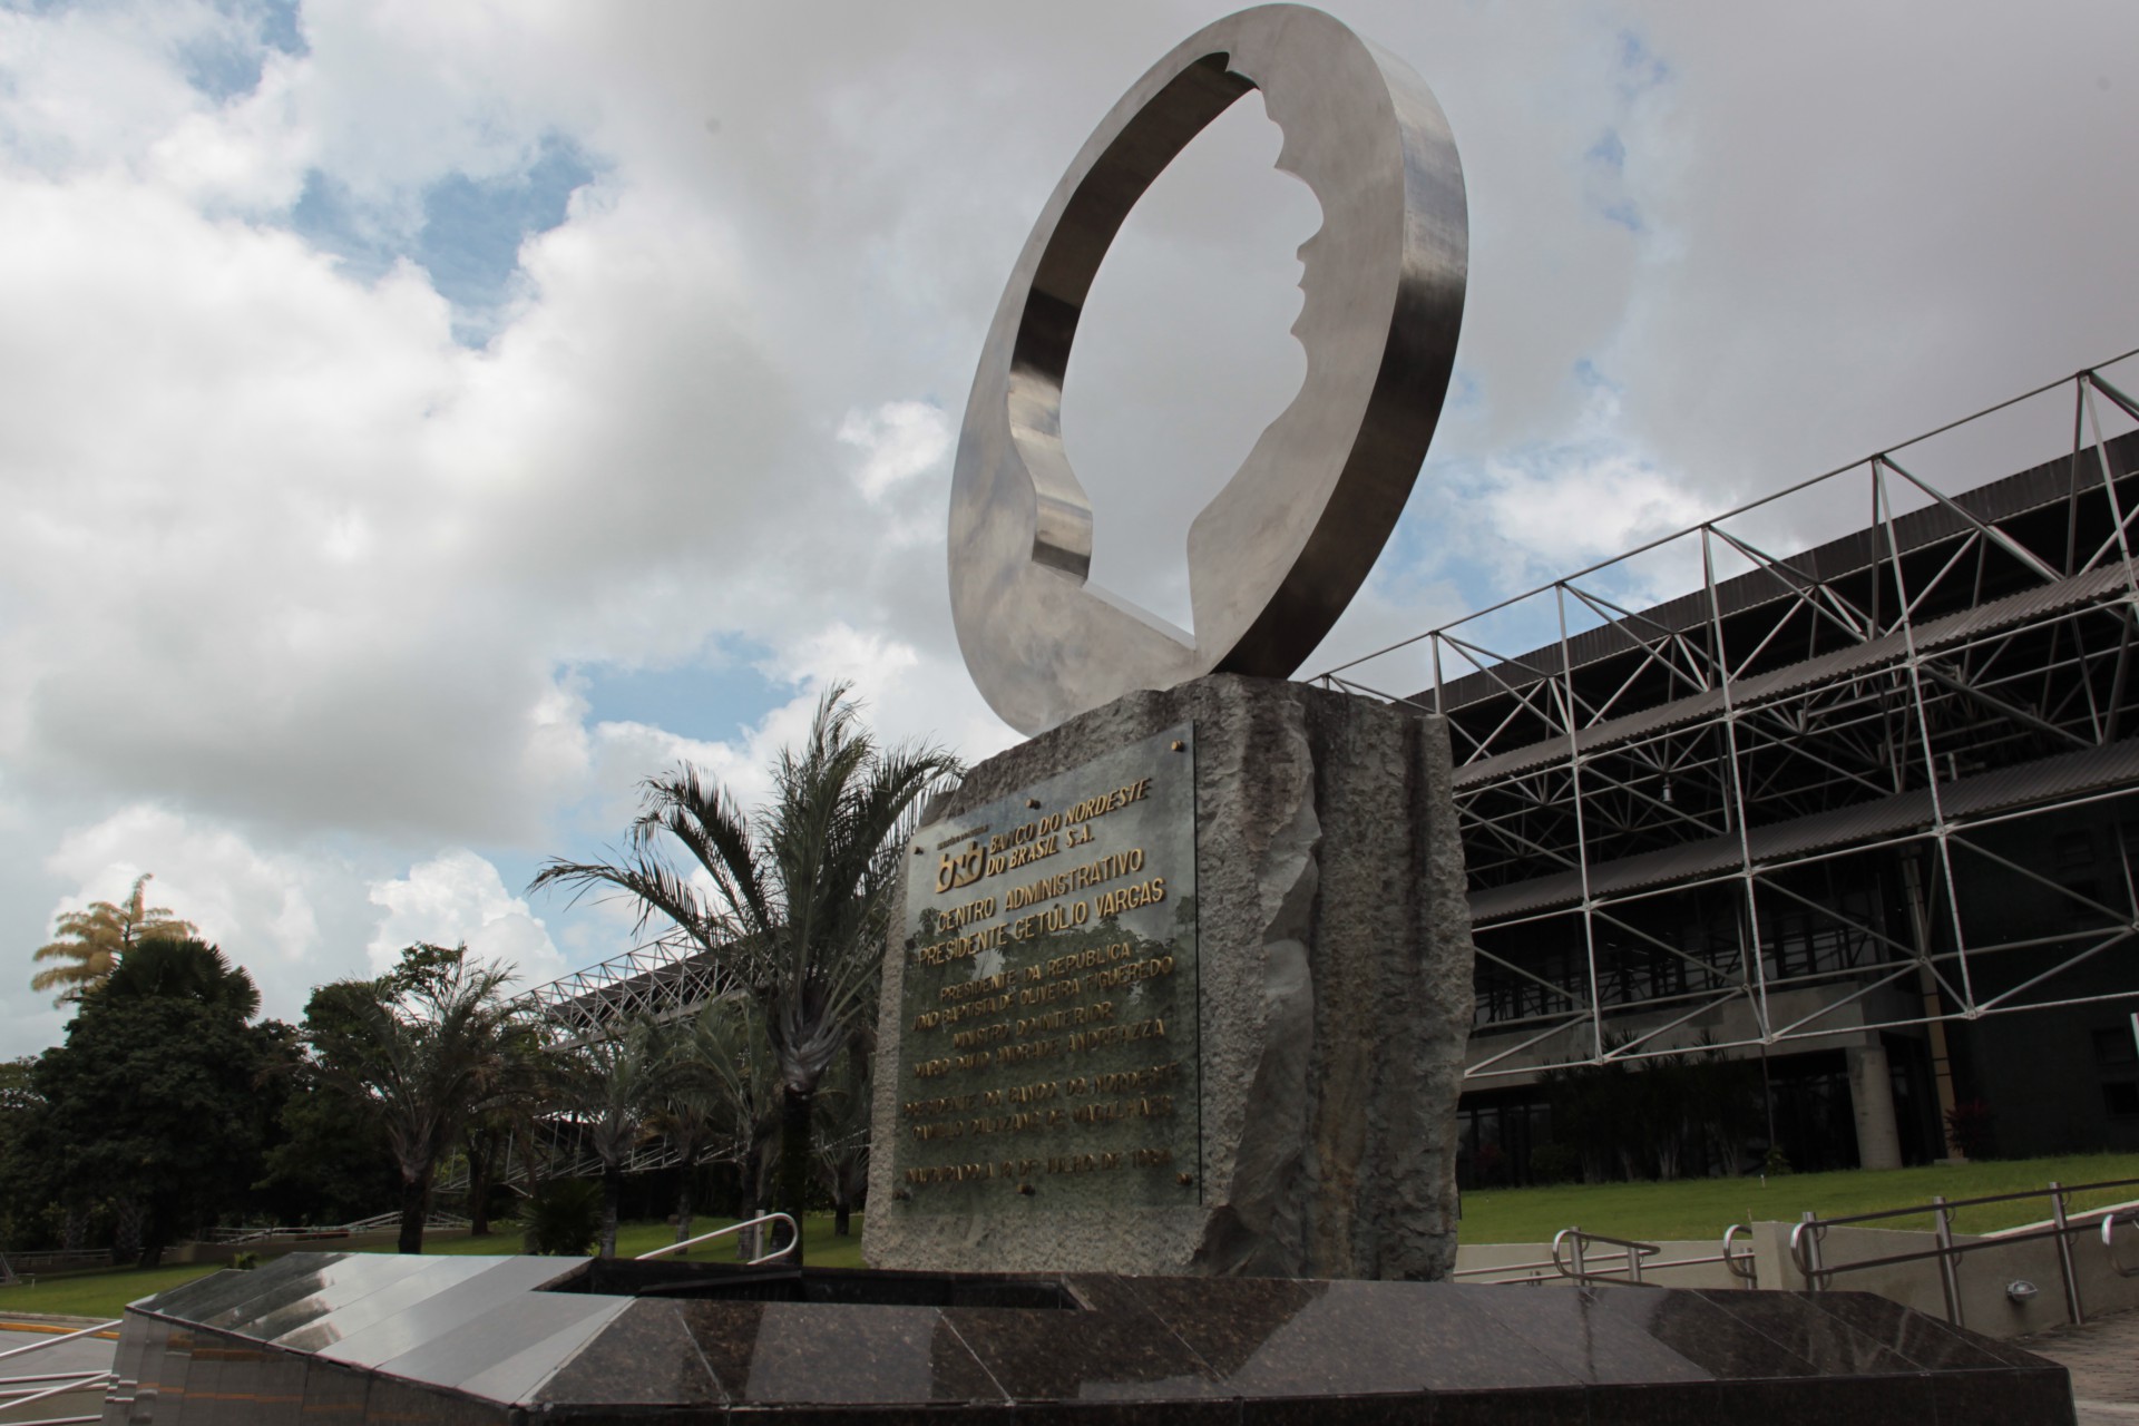
[[(1756, 1285), (1760, 1289), (1803, 1291), (1807, 1287), (1803, 1274), (1790, 1261), (1792, 1227), (1797, 1225), (1754, 1223), (1752, 1236), (1739, 1236), (1733, 1244), (1733, 1251), (1752, 1251)], [(2096, 1236), (2098, 1229), (2092, 1223), (2083, 1225), (2083, 1229), (2071, 1238), (2073, 1278), (2079, 1287), (2081, 1311), (2088, 1317), (2098, 1317), (2103, 1313), (2139, 1308), (2139, 1278), (2118, 1276)], [(2064, 1281), (2058, 1270), (2058, 1246), (2053, 1240), (2000, 1242), (1998, 1236), (1972, 1238), (1955, 1234), (1953, 1242), (1955, 1246), (1981, 1244), (1970, 1246), (1957, 1259), (1955, 1268), (1964, 1326), (1985, 1336), (2011, 1338), (2068, 1321)], [(1932, 1234), (1880, 1227), (1831, 1227), (1822, 1238), (1820, 1257), (1827, 1268), (1844, 1268), (1846, 1264), (1874, 1257), (1927, 1253), (1936, 1244), (1938, 1240)], [(1643, 1281), (1647, 1283), (1660, 1287), (1745, 1287), (1722, 1264), (1656, 1266), (1686, 1257), (1715, 1257), (1722, 1251), (1720, 1236), (1698, 1242), (1658, 1242), (1656, 1246), (1662, 1251), (1647, 1259), (1649, 1266), (1643, 1268)], [(1525, 1268), (1525, 1264), (1542, 1264), (1551, 1255), (1553, 1246), (1549, 1242), (1463, 1244), (1457, 1249), (1457, 1272), (1463, 1274), (1461, 1281), (1465, 1283), (1536, 1281), (1540, 1285), (1570, 1285), (1570, 1278), (1557, 1276), (1549, 1266)], [(2139, 1261), (2139, 1251), (2130, 1251), (2130, 1255)], [(1611, 1272), (1615, 1278), (1621, 1276), (1624, 1264), (1626, 1257), (1617, 1249), (1602, 1246), (1594, 1246), (1585, 1259), (1591, 1272)], [(2006, 1285), (2015, 1281), (2034, 1283), (2034, 1298), (2015, 1302), (2006, 1293)], [(1835, 1272), (1829, 1278), (1829, 1287), (1837, 1291), (1874, 1291), (1934, 1317), (1946, 1315), (1946, 1293), (1938, 1278), (1936, 1257), (1859, 1272)]]

